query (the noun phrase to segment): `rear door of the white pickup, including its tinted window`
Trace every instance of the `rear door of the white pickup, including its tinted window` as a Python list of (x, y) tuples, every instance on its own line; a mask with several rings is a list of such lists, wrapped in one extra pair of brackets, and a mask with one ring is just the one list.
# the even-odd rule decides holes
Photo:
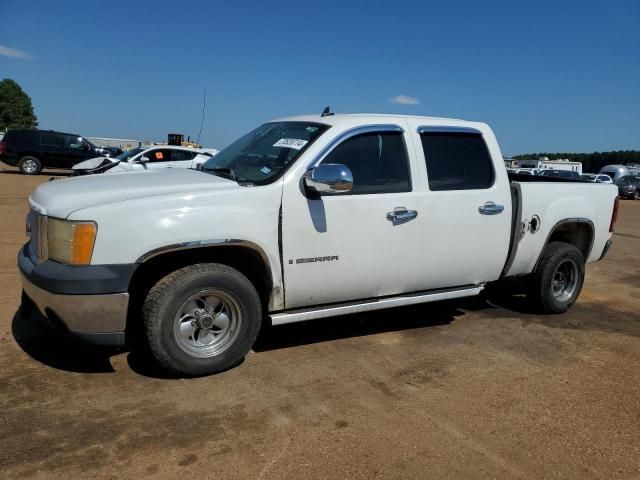
[(410, 121), (421, 174), (425, 222), (424, 288), (475, 285), (499, 278), (511, 235), (511, 193), (502, 154), (488, 131), (424, 127)]

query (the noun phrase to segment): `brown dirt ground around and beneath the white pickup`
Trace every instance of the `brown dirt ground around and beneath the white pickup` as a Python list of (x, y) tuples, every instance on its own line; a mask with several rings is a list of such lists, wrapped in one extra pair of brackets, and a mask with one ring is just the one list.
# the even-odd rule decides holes
[(50, 176), (0, 168), (0, 478), (640, 478), (640, 202), (565, 315), (497, 289), (266, 328), (176, 380), (18, 313)]

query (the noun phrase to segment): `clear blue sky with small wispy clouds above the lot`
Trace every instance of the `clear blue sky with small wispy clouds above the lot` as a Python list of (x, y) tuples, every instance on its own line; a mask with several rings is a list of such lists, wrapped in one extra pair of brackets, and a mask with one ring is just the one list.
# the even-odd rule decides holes
[(489, 123), (503, 154), (640, 149), (640, 0), (0, 0), (40, 127), (221, 148), (281, 116)]

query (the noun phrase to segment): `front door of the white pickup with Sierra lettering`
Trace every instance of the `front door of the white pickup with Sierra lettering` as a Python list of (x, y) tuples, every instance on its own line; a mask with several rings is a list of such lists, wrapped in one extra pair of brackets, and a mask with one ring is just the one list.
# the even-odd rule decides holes
[[(282, 249), (286, 308), (392, 295), (418, 288), (409, 272), (421, 217), (412, 216), (405, 134), (398, 127), (343, 140), (321, 163), (353, 173), (347, 194), (310, 198), (298, 182), (286, 182)], [(400, 130), (400, 131), (398, 131)], [(403, 220), (394, 219), (406, 210)], [(415, 269), (414, 269), (415, 270)]]

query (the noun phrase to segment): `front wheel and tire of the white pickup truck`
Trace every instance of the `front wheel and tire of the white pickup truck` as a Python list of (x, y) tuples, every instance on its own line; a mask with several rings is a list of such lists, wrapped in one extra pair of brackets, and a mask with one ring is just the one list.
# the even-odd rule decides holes
[[(206, 303), (212, 298), (220, 300), (218, 313)], [(183, 315), (186, 310), (197, 313), (190, 305), (198, 307), (202, 316)], [(227, 319), (226, 331), (216, 330), (215, 324), (207, 330), (206, 322), (214, 323), (219, 315)], [(179, 320), (187, 317), (187, 321)], [(156, 283), (145, 299), (143, 319), (149, 348), (158, 364), (173, 374), (200, 376), (227, 370), (242, 361), (260, 331), (262, 307), (255, 287), (243, 274), (226, 265), (201, 263), (176, 270)], [(188, 338), (178, 333), (183, 326), (191, 335)], [(215, 337), (216, 332), (220, 337)], [(200, 345), (200, 338), (209, 335), (218, 340)], [(226, 343), (218, 345), (224, 346), (223, 350), (207, 353), (216, 341), (223, 340)]]

